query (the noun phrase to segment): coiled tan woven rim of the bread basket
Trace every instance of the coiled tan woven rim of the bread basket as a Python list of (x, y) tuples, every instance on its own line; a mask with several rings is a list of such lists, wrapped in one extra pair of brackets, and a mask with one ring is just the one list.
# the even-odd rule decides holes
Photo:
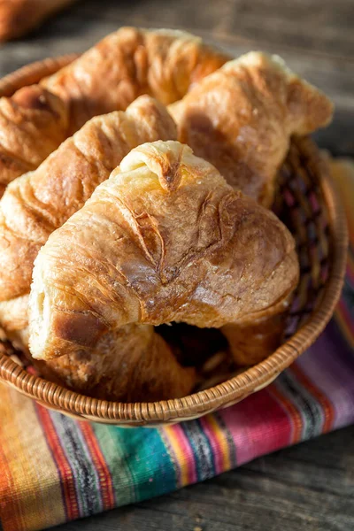
[[(0, 96), (12, 93), (27, 84), (35, 83), (58, 68), (69, 64), (77, 54), (48, 58), (23, 66), (0, 80)], [(342, 291), (348, 247), (348, 231), (345, 213), (327, 165), (319, 156), (319, 150), (309, 138), (297, 139), (316, 165), (320, 165), (319, 188), (324, 196), (328, 212), (329, 238), (331, 242), (331, 267), (319, 307), (312, 312), (310, 319), (296, 334), (281, 345), (271, 356), (256, 366), (228, 381), (196, 392), (183, 398), (173, 398), (150, 403), (120, 403), (99, 400), (65, 389), (58, 384), (43, 380), (27, 373), (6, 352), (5, 345), (0, 350), (0, 381), (10, 384), (23, 394), (39, 400), (42, 404), (58, 408), (59, 411), (85, 415), (90, 419), (117, 420), (118, 422), (149, 423), (175, 419), (191, 419), (205, 412), (211, 412), (240, 396), (261, 389), (282, 370), (287, 368), (300, 354), (314, 342), (332, 317), (335, 305)]]

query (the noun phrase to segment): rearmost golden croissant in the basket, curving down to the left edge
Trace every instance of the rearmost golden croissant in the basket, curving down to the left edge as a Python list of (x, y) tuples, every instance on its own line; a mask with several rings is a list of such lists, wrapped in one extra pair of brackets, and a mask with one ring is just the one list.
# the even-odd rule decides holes
[(41, 86), (2, 98), (0, 196), (8, 182), (34, 170), (89, 119), (124, 111), (143, 94), (170, 104), (228, 59), (194, 35), (123, 27)]

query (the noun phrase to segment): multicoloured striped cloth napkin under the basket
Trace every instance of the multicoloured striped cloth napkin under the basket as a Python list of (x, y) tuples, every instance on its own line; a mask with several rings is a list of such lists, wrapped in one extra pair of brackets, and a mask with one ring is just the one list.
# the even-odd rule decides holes
[(158, 496), (354, 422), (354, 165), (335, 163), (334, 173), (345, 191), (351, 250), (341, 302), (316, 344), (242, 403), (159, 429), (75, 421), (1, 386), (4, 531)]

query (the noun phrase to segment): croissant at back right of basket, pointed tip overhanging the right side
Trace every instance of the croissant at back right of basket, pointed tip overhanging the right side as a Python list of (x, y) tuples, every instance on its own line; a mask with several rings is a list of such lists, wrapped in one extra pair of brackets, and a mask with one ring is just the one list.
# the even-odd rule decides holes
[(290, 136), (326, 126), (333, 105), (281, 58), (250, 52), (204, 78), (169, 110), (181, 142), (235, 189), (269, 207)]

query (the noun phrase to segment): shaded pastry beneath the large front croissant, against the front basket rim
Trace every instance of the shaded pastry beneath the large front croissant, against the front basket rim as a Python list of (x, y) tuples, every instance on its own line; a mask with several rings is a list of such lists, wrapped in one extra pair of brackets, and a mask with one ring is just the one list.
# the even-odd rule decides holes
[(181, 366), (149, 325), (131, 324), (105, 334), (96, 350), (31, 363), (50, 381), (106, 400), (168, 400), (189, 395), (196, 385), (195, 368)]

